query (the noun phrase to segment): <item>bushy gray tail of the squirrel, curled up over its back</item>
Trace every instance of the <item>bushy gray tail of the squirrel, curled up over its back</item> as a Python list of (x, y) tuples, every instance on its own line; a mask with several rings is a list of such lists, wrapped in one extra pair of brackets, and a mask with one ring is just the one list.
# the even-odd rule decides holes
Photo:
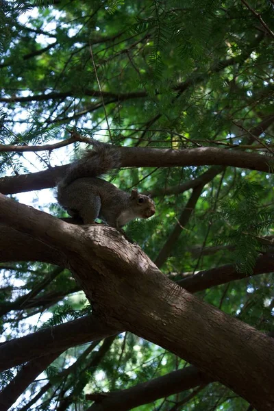
[(71, 164), (66, 176), (58, 184), (58, 191), (77, 178), (99, 177), (112, 169), (119, 169), (120, 166), (119, 150), (112, 145), (95, 141), (92, 150), (86, 150), (82, 158)]

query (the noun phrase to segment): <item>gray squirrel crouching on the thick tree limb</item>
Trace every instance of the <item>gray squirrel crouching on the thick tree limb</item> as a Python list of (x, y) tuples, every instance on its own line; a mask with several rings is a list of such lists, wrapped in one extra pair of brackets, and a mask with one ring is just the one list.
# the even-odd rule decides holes
[(121, 166), (120, 153), (114, 146), (93, 140), (93, 149), (73, 162), (57, 187), (60, 205), (84, 224), (103, 220), (116, 229), (136, 218), (149, 219), (155, 214), (154, 201), (136, 189), (131, 194), (98, 178)]

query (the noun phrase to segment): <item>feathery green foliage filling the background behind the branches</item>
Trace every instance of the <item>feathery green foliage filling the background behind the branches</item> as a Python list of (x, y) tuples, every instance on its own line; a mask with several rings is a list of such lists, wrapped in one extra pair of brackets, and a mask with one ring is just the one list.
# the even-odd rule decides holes
[[(273, 31), (270, 2), (249, 4)], [(54, 172), (79, 157), (83, 142), (45, 151), (2, 147), (65, 143), (71, 129), (117, 146), (267, 153), (269, 174), (256, 171), (256, 164), (250, 170), (226, 166), (204, 184), (187, 219), (192, 182), (212, 170), (197, 165), (198, 155), (192, 165), (169, 167), (163, 158), (159, 168), (123, 169), (106, 178), (127, 192), (137, 187), (153, 193), (155, 216), (125, 227), (152, 260), (179, 230), (160, 267), (166, 275), (177, 281), (233, 264), (245, 277), (202, 290), (199, 298), (262, 332), (273, 331), (273, 273), (253, 275), (258, 256), (273, 253), (273, 125), (262, 125), (274, 112), (272, 40), (240, 1), (2, 0), (0, 177)], [(216, 158), (212, 154), (212, 162)], [(54, 191), (13, 197), (65, 216)], [(49, 278), (54, 270), (42, 262), (1, 264), (3, 338), (90, 314), (72, 274), (63, 270)], [(102, 346), (97, 341), (64, 351), (29, 385), (14, 411), (59, 410), (62, 400), (68, 411), (87, 410), (85, 393), (131, 388), (188, 366), (129, 332), (92, 362)], [(13, 377), (13, 370), (3, 373), (3, 386)], [(45, 393), (44, 382), (50, 383)], [(178, 409), (185, 411), (248, 408), (219, 383), (192, 393), (184, 390), (136, 410), (170, 411), (180, 401)]]

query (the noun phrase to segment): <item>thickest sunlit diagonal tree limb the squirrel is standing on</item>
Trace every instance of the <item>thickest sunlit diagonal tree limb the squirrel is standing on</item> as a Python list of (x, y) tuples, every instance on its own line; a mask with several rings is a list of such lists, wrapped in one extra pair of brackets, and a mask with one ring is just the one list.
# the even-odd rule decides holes
[(0, 195), (5, 222), (56, 249), (103, 323), (195, 364), (253, 404), (274, 408), (274, 341), (174, 284), (111, 227), (75, 226)]

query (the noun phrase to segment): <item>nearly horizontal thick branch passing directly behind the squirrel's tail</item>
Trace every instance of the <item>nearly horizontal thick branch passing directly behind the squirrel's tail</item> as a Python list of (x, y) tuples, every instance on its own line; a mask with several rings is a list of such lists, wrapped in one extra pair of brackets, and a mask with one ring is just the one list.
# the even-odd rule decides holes
[[(273, 116), (274, 120), (274, 116)], [(237, 149), (199, 147), (197, 149), (171, 150), (145, 147), (117, 147), (121, 151), (123, 167), (184, 167), (184, 166), (232, 166), (240, 169), (273, 173), (273, 156), (243, 153)], [(41, 190), (56, 185), (67, 167), (56, 166), (38, 173), (0, 178), (0, 192), (14, 194), (30, 190)]]

